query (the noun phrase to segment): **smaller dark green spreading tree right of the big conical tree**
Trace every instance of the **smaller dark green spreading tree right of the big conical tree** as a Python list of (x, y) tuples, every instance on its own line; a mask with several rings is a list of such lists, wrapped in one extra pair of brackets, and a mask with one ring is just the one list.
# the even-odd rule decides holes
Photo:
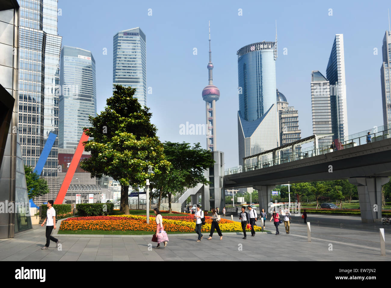
[[(200, 143), (191, 147), (189, 143), (163, 143), (164, 154), (171, 163), (170, 172), (156, 178), (155, 187), (160, 187), (161, 193), (167, 193), (169, 212), (171, 213), (171, 196), (193, 188), (198, 183), (209, 184), (204, 177), (204, 170), (214, 164), (211, 153), (202, 149)], [(155, 181), (155, 180), (154, 180)]]

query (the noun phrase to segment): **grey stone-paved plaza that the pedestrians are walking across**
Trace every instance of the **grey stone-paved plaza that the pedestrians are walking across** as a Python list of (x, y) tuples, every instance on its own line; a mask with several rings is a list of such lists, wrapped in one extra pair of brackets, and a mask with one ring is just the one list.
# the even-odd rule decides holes
[[(310, 214), (309, 214), (310, 215)], [(230, 219), (230, 217), (227, 217)], [(234, 220), (235, 217), (234, 217)], [(197, 243), (196, 234), (169, 234), (166, 248), (154, 249), (151, 235), (63, 235), (54, 230), (52, 235), (61, 239), (59, 251), (54, 242), (48, 250), (45, 245), (45, 227), (34, 225), (32, 230), (15, 234), (14, 238), (0, 240), (1, 261), (391, 261), (391, 226), (361, 223), (355, 216), (310, 215), (312, 241), (307, 241), (307, 226), (299, 217), (292, 218), (291, 233), (284, 225), (275, 235), (271, 222), (270, 232), (257, 232), (247, 239), (243, 234), (217, 233), (213, 239), (204, 233)], [(260, 223), (258, 221), (258, 223)], [(57, 227), (59, 223), (57, 222)], [(378, 228), (384, 228), (386, 256), (380, 255)], [(332, 250), (331, 250), (332, 248)]]

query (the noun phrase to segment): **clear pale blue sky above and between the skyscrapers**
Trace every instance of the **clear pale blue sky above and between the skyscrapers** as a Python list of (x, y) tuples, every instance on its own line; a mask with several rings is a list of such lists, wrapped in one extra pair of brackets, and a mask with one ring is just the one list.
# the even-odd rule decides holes
[(383, 125), (380, 67), (390, 7), (389, 1), (59, 0), (58, 34), (63, 45), (93, 54), (99, 114), (112, 95), (113, 36), (140, 27), (147, 43), (147, 87), (152, 88), (147, 106), (157, 136), (199, 142), (206, 149), (204, 135), (181, 135), (179, 127), (205, 123), (201, 92), (208, 85), (210, 21), (213, 84), (220, 89), (217, 150), (230, 168), (239, 164), (236, 53), (251, 43), (274, 41), (276, 22), (276, 85), (299, 112), (301, 138), (312, 135), (311, 71), (326, 76), (335, 34), (344, 37), (348, 133)]

